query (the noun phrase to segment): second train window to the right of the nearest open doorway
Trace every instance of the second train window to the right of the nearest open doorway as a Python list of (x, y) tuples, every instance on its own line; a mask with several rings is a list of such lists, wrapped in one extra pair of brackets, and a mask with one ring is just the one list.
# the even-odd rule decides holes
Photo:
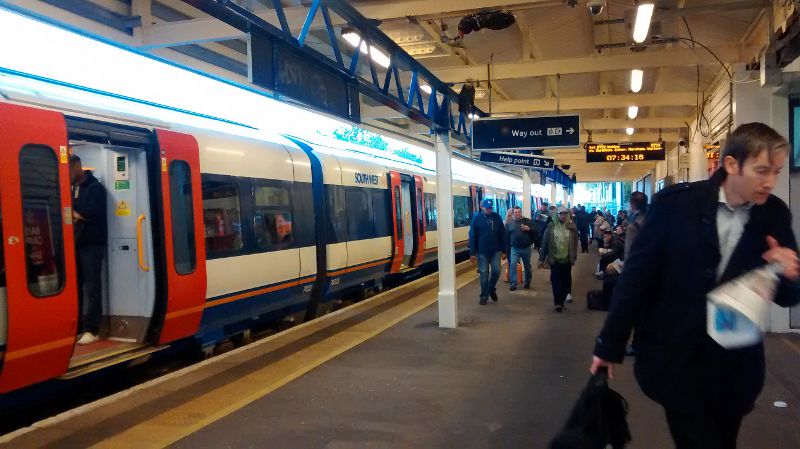
[(277, 251), (290, 247), (294, 241), (294, 233), (289, 189), (256, 186), (254, 200), (253, 223), (259, 249)]

